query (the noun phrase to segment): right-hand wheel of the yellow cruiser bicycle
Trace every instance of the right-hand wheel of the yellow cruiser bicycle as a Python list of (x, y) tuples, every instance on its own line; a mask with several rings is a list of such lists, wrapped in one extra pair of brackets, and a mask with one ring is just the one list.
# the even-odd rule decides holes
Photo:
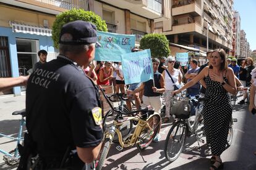
[(160, 115), (156, 114), (156, 115), (151, 116), (147, 120), (147, 124), (148, 124), (148, 126), (150, 126), (151, 129), (146, 125), (143, 127), (142, 131), (140, 132), (140, 136), (139, 136), (140, 149), (147, 148), (153, 141), (154, 137), (156, 136), (156, 134), (161, 126)]

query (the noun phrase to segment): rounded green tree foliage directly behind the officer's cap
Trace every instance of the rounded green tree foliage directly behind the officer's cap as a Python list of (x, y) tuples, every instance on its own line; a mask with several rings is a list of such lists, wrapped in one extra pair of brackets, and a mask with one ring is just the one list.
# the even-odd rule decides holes
[(83, 9), (71, 9), (56, 16), (56, 20), (53, 23), (52, 38), (54, 47), (59, 48), (59, 34), (61, 33), (61, 27), (75, 20), (83, 20), (86, 22), (92, 22), (96, 25), (98, 31), (108, 31), (105, 20), (102, 20), (99, 15), (96, 15), (92, 11), (85, 11)]

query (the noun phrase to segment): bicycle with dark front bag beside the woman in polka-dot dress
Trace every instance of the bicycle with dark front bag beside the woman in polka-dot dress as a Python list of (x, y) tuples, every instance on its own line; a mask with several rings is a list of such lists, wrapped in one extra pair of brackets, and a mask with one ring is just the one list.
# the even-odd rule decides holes
[[(176, 97), (171, 98), (173, 105), (172, 114), (174, 113), (173, 116), (174, 118), (177, 118), (177, 121), (169, 130), (164, 144), (164, 155), (170, 162), (175, 161), (183, 151), (186, 137), (196, 136), (198, 147), (200, 148), (199, 140), (201, 140), (204, 134), (202, 115), (204, 100), (204, 97), (199, 96), (189, 99), (188, 97), (177, 95)], [(194, 103), (196, 109), (194, 122), (192, 124), (189, 120), (191, 102)], [(177, 110), (179, 111), (178, 114), (174, 111), (175, 107), (177, 107)], [(183, 107), (182, 110), (181, 107)]]

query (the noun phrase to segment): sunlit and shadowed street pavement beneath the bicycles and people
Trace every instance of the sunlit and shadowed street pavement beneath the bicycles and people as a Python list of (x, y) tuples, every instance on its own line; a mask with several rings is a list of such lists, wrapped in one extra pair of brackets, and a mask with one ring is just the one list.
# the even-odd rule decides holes
[[(239, 100), (241, 97), (239, 97)], [(237, 122), (233, 126), (233, 143), (222, 155), (224, 169), (256, 169), (256, 115), (247, 110), (248, 105), (236, 105), (233, 118)], [(15, 110), (25, 108), (25, 95), (18, 97), (0, 97), (0, 133), (16, 136), (19, 129), (20, 116), (12, 116)], [(142, 151), (143, 162), (139, 150), (136, 147), (126, 148), (122, 152), (116, 150), (117, 144), (111, 145), (103, 169), (209, 169), (210, 150), (205, 143), (200, 142), (200, 149), (195, 137), (186, 140), (186, 147), (179, 158), (169, 163), (164, 158), (164, 141), (171, 128), (171, 123), (161, 126), (160, 142), (152, 143), (150, 147)], [(14, 142), (0, 137), (0, 149), (12, 150)], [(0, 169), (15, 169), (15, 166), (6, 166), (0, 153)]]

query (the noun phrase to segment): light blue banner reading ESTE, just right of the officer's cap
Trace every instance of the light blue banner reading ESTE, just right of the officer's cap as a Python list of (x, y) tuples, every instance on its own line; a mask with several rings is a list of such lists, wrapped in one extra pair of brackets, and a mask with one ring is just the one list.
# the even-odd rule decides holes
[(97, 31), (95, 60), (121, 62), (121, 54), (130, 53), (135, 47), (135, 35)]

